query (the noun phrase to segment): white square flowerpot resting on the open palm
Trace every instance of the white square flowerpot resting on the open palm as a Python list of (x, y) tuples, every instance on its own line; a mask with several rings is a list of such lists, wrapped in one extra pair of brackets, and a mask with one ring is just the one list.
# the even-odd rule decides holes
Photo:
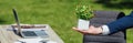
[(90, 21), (89, 20), (78, 20), (78, 29), (79, 30), (88, 30), (89, 29)]

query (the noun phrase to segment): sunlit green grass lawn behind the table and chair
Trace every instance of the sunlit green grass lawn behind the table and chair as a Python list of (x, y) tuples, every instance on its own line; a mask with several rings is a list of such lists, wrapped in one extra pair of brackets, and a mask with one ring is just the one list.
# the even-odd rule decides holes
[[(106, 8), (91, 0), (0, 0), (0, 24), (13, 24), (12, 8), (17, 9), (21, 23), (50, 24), (65, 43), (82, 43), (76, 26), (74, 9), (78, 4), (93, 6), (94, 10), (115, 10), (129, 14), (132, 9)], [(127, 31), (127, 42), (133, 43), (133, 30)]]

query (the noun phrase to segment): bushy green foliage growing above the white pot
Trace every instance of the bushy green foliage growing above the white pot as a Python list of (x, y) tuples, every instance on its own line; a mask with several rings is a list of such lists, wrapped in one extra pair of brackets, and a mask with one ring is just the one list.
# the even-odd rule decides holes
[(75, 9), (75, 14), (79, 19), (90, 20), (94, 17), (93, 10), (86, 6), (79, 6)]

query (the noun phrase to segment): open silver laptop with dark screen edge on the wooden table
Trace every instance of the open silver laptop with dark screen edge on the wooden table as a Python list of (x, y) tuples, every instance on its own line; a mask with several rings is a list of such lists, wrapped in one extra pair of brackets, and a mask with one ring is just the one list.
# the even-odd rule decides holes
[(29, 29), (23, 29), (20, 25), (19, 18), (17, 14), (17, 11), (12, 9), (14, 19), (17, 22), (17, 34), (21, 35), (22, 37), (31, 39), (31, 37), (49, 37), (48, 33), (43, 28), (29, 28)]

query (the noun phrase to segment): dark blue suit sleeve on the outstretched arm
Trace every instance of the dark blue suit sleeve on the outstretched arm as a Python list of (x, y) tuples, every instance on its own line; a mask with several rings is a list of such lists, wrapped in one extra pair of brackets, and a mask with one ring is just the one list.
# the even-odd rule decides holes
[(114, 22), (106, 24), (109, 26), (110, 33), (115, 33), (121, 30), (133, 26), (133, 11), (130, 15), (123, 17)]

